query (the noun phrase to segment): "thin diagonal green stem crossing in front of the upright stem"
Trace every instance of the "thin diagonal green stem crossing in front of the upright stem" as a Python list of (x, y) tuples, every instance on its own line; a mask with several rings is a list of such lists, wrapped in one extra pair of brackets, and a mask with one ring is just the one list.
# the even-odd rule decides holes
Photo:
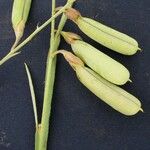
[(66, 5), (64, 5), (55, 15), (53, 15), (50, 19), (48, 19), (44, 24), (42, 24), (40, 27), (37, 27), (37, 29), (28, 37), (26, 38), (21, 44), (19, 44), (16, 48), (11, 50), (2, 60), (0, 60), (0, 65), (5, 63), (8, 59), (14, 57), (16, 55), (16, 52), (20, 50), (24, 45), (26, 45), (29, 41), (32, 40), (32, 38), (38, 34), (42, 29), (44, 29), (48, 24), (51, 23), (56, 17), (58, 17), (60, 14), (62, 14), (66, 8), (69, 7), (70, 3), (74, 2), (74, 0), (69, 0)]

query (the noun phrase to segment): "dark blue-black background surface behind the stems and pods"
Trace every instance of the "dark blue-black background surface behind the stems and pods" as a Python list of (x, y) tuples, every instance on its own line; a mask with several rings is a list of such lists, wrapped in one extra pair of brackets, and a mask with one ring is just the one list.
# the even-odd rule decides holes
[[(11, 27), (13, 0), (0, 1), (0, 57), (14, 41)], [(58, 6), (65, 1), (58, 1)], [(63, 57), (58, 57), (52, 103), (49, 150), (150, 150), (150, 1), (78, 0), (75, 8), (84, 16), (101, 21), (139, 41), (142, 53), (132, 57), (109, 51), (81, 33), (68, 21), (66, 31), (74, 31), (93, 46), (123, 63), (133, 83), (124, 89), (137, 96), (145, 113), (125, 117), (88, 91), (76, 78)], [(50, 0), (33, 0), (24, 38), (50, 17)], [(34, 117), (23, 63), (31, 70), (41, 116), (49, 28), (43, 30), (22, 54), (0, 67), (0, 150), (33, 150)], [(70, 47), (62, 40), (61, 48)]]

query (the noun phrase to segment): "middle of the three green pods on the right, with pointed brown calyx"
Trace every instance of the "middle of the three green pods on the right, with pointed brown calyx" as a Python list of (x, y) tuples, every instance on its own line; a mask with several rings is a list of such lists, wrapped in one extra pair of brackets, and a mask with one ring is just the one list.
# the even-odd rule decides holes
[(62, 35), (71, 44), (73, 52), (106, 80), (117, 85), (123, 85), (130, 80), (130, 73), (127, 68), (116, 60), (82, 41), (74, 33), (62, 32)]

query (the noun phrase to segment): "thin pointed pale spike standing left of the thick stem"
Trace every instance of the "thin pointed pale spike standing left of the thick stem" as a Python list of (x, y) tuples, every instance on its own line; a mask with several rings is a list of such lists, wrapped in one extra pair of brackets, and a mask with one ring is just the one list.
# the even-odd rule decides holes
[(37, 115), (37, 107), (36, 107), (36, 97), (35, 97), (35, 92), (34, 92), (34, 86), (32, 82), (32, 77), (31, 73), (29, 71), (29, 68), (26, 63), (24, 63), (28, 81), (29, 81), (29, 87), (30, 87), (30, 92), (31, 92), (31, 98), (32, 98), (32, 104), (33, 104), (33, 111), (34, 111), (34, 118), (35, 118), (35, 125), (36, 129), (38, 128), (38, 115)]

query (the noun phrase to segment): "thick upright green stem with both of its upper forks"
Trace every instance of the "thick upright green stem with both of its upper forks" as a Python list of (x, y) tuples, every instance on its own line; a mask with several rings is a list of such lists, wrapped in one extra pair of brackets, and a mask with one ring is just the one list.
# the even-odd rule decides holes
[[(69, 0), (68, 0), (69, 2)], [(74, 1), (69, 4), (68, 7), (71, 7)], [(52, 14), (54, 11), (54, 0), (52, 6)], [(67, 18), (63, 14), (61, 17), (61, 21), (59, 23), (58, 30), (54, 37), (54, 22), (51, 26), (51, 42), (50, 49), (47, 57), (47, 66), (46, 66), (46, 76), (45, 76), (45, 90), (44, 90), (44, 102), (43, 102), (43, 112), (42, 112), (42, 120), (40, 124), (40, 128), (36, 133), (36, 150), (46, 150), (47, 148), (47, 139), (49, 132), (49, 118), (51, 113), (51, 102), (53, 95), (53, 87), (55, 81), (55, 70), (56, 70), (56, 57), (50, 57), (50, 54), (55, 52), (58, 49), (60, 43), (60, 32), (63, 29)]]

